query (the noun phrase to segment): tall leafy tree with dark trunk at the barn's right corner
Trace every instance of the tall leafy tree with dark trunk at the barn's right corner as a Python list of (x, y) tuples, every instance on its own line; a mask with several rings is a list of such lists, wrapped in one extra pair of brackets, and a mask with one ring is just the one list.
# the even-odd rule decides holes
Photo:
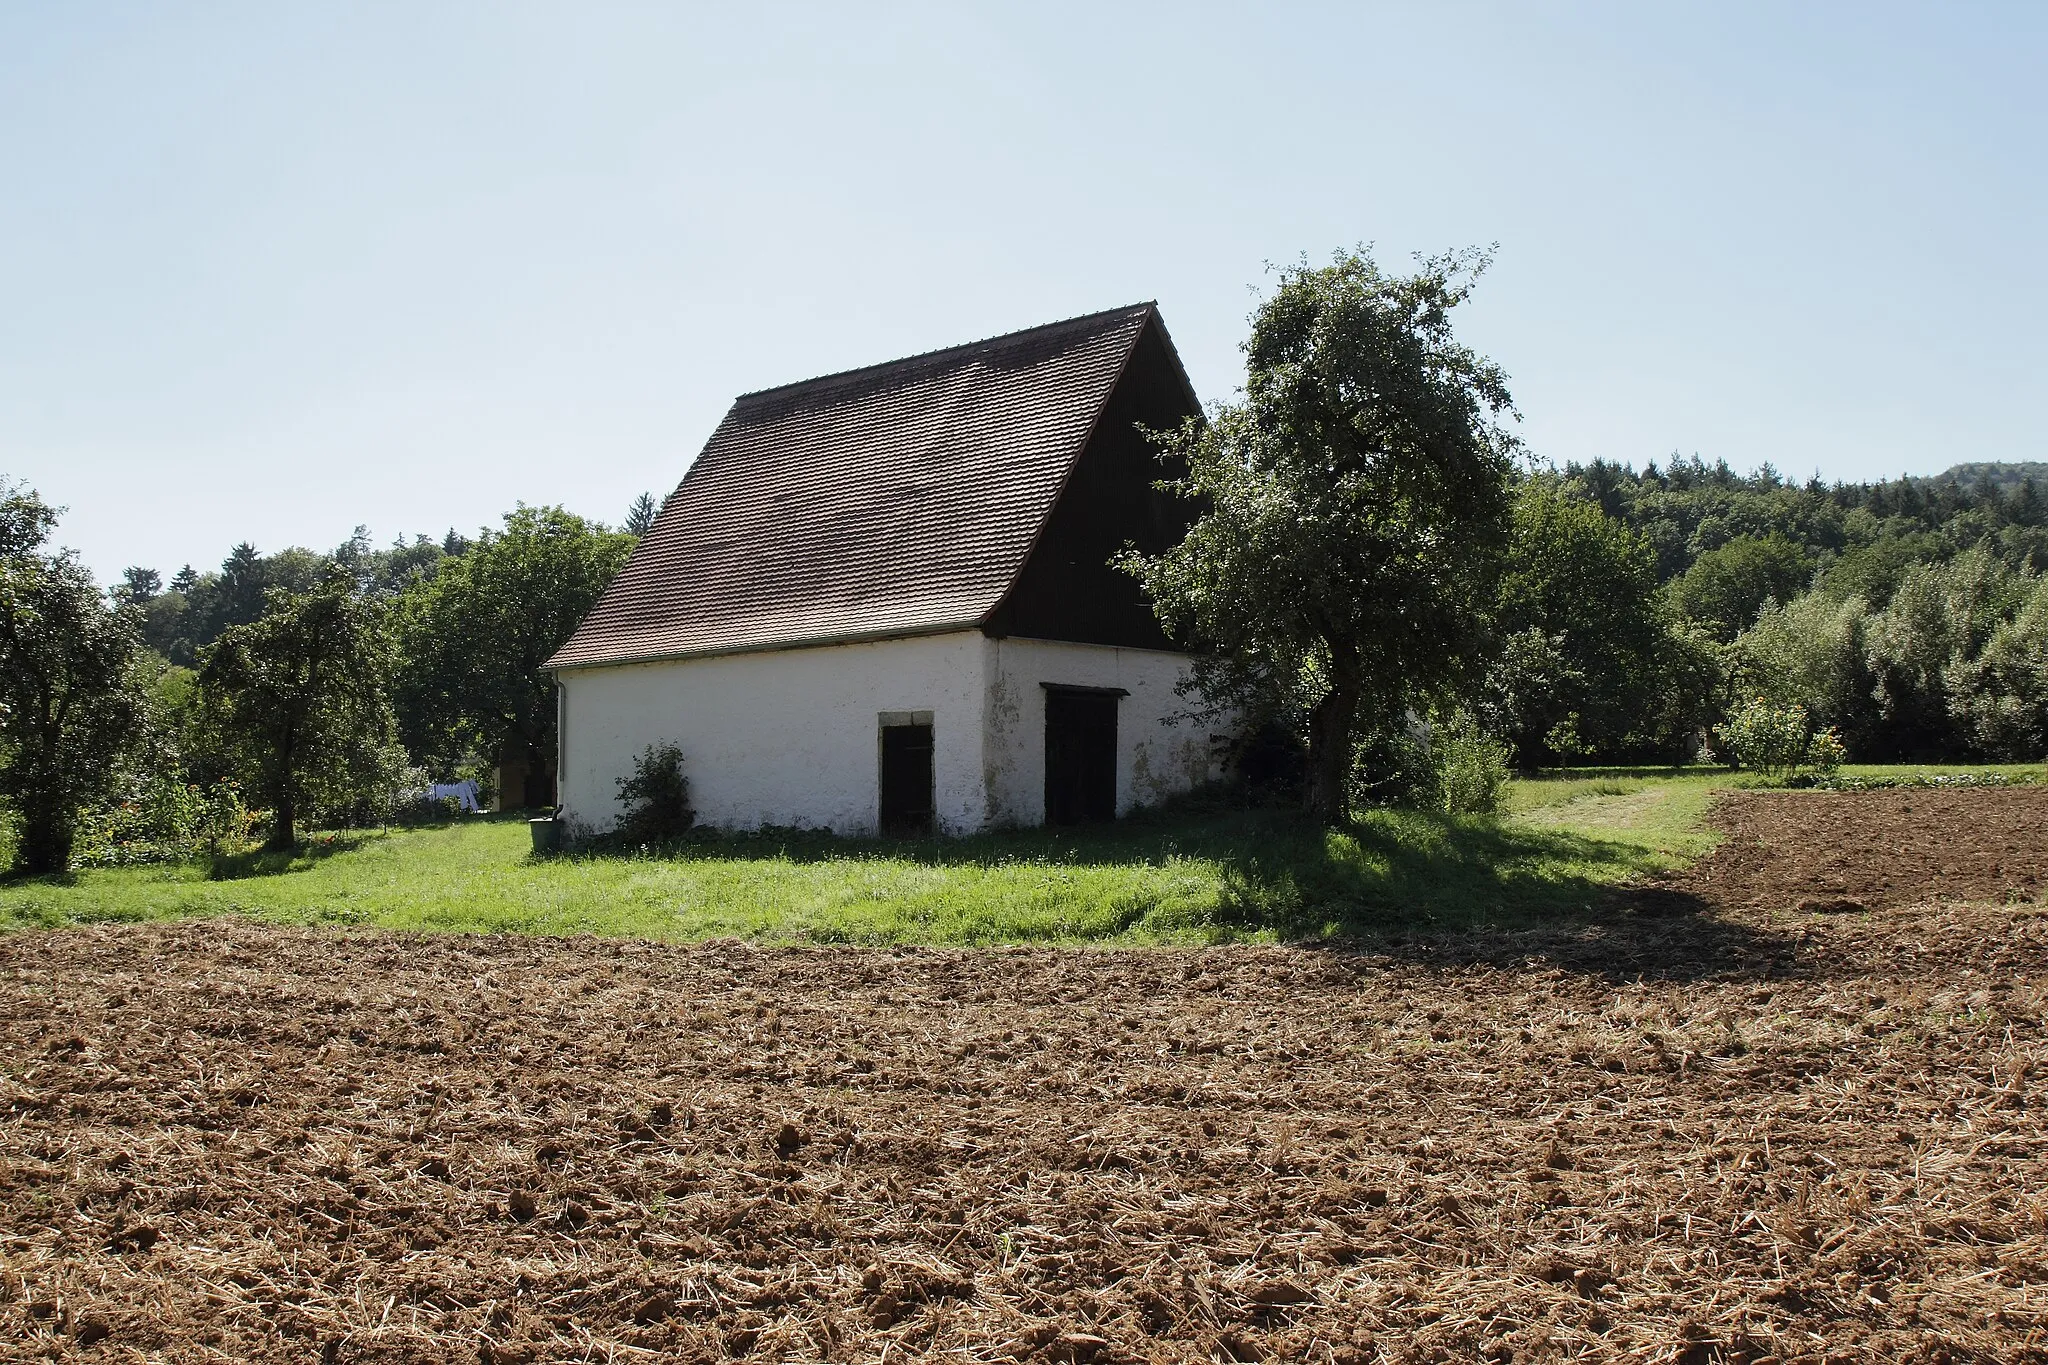
[(1251, 317), (1241, 403), (1165, 444), (1204, 508), (1182, 544), (1124, 567), (1204, 651), (1206, 696), (1309, 733), (1309, 806), (1348, 814), (1360, 716), (1468, 673), (1509, 528), (1507, 379), (1452, 309), (1477, 252), (1384, 274), (1364, 250), (1307, 262)]

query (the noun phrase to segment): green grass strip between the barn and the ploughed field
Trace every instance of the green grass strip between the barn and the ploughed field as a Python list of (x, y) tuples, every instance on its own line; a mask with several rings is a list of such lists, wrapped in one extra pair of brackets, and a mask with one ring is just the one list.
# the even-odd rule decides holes
[[(1884, 776), (1915, 769), (1858, 769)], [(2015, 769), (2038, 774), (2040, 769)], [(662, 855), (535, 860), (524, 821), (340, 833), (285, 857), (0, 884), (0, 927), (195, 915), (385, 929), (715, 935), (821, 943), (1300, 939), (1571, 919), (1683, 866), (1722, 772), (1518, 780), (1499, 817), (1372, 810), (1323, 831), (1182, 808), (1087, 831), (856, 841), (733, 837)]]

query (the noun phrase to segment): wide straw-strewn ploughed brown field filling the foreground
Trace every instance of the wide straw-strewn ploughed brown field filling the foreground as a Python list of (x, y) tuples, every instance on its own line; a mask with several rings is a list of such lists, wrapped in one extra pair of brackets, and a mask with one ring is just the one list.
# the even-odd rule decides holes
[(0, 1357), (2048, 1361), (2048, 915), (0, 941)]

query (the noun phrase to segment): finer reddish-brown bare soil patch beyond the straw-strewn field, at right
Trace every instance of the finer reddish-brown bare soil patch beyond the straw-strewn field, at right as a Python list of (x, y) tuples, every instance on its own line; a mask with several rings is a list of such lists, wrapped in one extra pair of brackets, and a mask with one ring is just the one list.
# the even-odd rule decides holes
[(1726, 792), (1710, 821), (1729, 839), (1679, 884), (1718, 907), (2009, 905), (2048, 886), (2048, 786)]

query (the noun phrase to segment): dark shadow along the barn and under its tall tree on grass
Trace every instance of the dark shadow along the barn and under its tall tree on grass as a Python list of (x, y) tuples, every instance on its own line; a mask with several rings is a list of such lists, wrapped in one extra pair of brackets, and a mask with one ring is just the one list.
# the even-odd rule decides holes
[[(1114, 825), (965, 839), (838, 839), (813, 831), (694, 835), (659, 849), (571, 857), (909, 862), (928, 868), (1212, 868), (1219, 892), (1190, 907), (1118, 890), (1104, 937), (1282, 939), (1432, 962), (1526, 966), (1532, 958), (1614, 978), (1782, 974), (1790, 948), (1657, 884), (1634, 843), (1493, 817), (1372, 810), (1331, 831), (1294, 812), (1182, 806)], [(1163, 894), (1163, 892), (1161, 892)]]

